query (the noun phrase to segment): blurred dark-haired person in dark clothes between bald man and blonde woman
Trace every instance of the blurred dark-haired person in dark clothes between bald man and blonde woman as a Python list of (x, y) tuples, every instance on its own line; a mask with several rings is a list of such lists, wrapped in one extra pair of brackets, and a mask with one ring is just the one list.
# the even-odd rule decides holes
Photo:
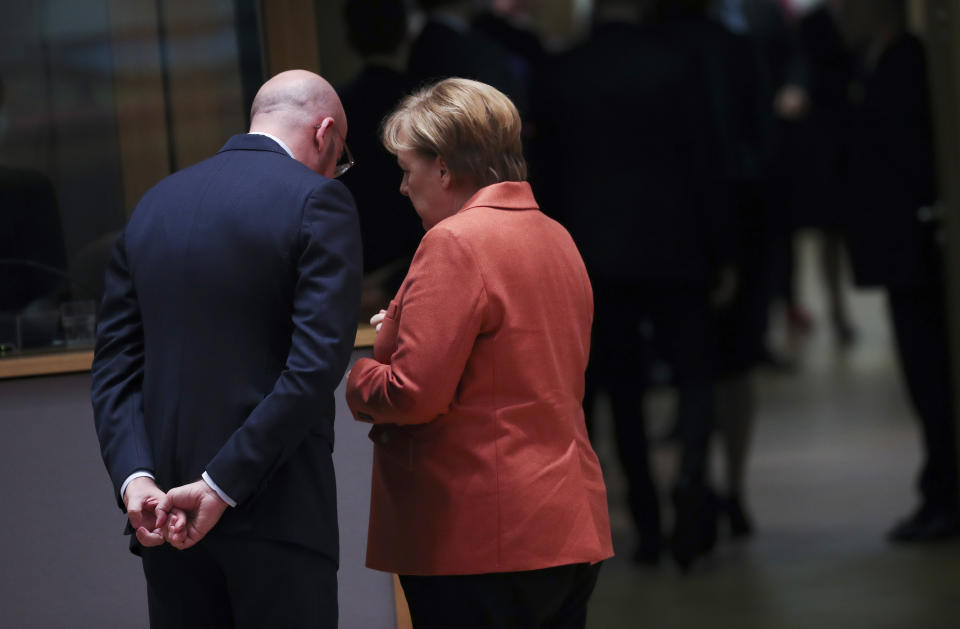
[(383, 293), (369, 299), (379, 308), (400, 287), (423, 236), (410, 202), (397, 192), (397, 158), (380, 142), (381, 122), (412, 88), (407, 75), (393, 65), (406, 39), (406, 9), (401, 0), (349, 0), (344, 16), (348, 40), (364, 66), (337, 87), (344, 110), (350, 112), (350, 149), (359, 164), (340, 180), (357, 202), (363, 269), (375, 274), (375, 286), (368, 288)]

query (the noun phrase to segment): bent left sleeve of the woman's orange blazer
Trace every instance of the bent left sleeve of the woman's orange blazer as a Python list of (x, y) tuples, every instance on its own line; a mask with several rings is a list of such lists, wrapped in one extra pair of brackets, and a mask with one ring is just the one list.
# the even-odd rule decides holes
[(389, 364), (358, 360), (347, 403), (360, 421), (419, 424), (450, 408), (488, 297), (472, 251), (443, 228), (427, 232), (410, 266)]

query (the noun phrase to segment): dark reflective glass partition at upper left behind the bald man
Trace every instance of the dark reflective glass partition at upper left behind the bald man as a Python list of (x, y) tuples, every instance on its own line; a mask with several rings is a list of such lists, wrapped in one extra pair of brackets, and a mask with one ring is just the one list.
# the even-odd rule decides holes
[(247, 124), (254, 0), (37, 0), (0, 20), (0, 359), (91, 348), (143, 192)]

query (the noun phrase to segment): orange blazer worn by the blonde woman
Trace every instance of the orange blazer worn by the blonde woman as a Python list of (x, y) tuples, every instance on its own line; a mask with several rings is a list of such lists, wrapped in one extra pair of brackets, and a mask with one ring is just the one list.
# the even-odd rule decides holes
[(583, 420), (593, 294), (530, 185), (430, 229), (347, 402), (375, 424), (367, 566), (480, 574), (613, 555)]

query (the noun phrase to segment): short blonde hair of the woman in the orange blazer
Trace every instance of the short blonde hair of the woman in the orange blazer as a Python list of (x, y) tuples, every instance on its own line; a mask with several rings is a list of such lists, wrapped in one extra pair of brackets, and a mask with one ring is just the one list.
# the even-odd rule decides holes
[(483, 187), (526, 179), (520, 128), (520, 114), (505, 94), (486, 83), (453, 78), (400, 101), (383, 123), (382, 139), (393, 154), (439, 156), (454, 177)]

